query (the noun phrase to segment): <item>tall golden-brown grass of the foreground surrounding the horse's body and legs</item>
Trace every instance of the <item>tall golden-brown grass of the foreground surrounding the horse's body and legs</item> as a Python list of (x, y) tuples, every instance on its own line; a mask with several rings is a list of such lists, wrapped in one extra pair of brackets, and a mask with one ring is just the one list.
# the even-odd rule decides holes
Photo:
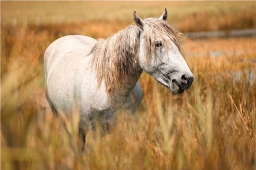
[(43, 54), (61, 36), (125, 24), (90, 26), (1, 27), (1, 169), (256, 169), (256, 54), (186, 58), (192, 95), (143, 73), (138, 118), (120, 113), (113, 134), (90, 132), (81, 161), (78, 115), (54, 120), (48, 108)]

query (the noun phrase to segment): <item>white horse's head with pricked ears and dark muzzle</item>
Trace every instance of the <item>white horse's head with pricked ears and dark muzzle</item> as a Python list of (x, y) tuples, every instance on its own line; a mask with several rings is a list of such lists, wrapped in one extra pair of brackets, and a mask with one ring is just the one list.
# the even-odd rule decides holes
[(166, 8), (161, 17), (145, 21), (136, 12), (133, 14), (136, 26), (141, 29), (140, 67), (175, 95), (189, 89), (194, 76), (180, 53), (178, 32), (166, 19)]

